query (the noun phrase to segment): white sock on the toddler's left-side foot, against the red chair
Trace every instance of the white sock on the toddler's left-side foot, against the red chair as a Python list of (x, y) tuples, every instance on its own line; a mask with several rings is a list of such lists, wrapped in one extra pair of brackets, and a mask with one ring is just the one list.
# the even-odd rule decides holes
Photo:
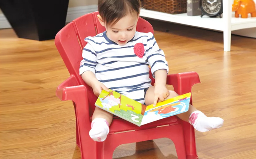
[(107, 138), (107, 134), (109, 133), (109, 123), (106, 119), (103, 118), (95, 118), (91, 124), (91, 130), (89, 131), (89, 135), (92, 140), (97, 142), (103, 142)]

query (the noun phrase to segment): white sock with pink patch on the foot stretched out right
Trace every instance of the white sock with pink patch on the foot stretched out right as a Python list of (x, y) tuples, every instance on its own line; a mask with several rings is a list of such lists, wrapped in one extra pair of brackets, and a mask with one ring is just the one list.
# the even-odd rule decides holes
[(194, 126), (197, 131), (206, 132), (223, 125), (223, 119), (219, 117), (207, 117), (201, 111), (194, 111), (189, 116), (189, 123)]

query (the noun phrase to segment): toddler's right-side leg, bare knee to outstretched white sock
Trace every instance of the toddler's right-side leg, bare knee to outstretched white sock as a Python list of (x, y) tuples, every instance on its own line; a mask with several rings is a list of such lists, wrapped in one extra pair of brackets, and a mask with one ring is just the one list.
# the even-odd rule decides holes
[[(174, 91), (170, 91), (170, 95), (166, 99), (170, 99), (173, 97), (178, 96), (178, 94)], [(165, 100), (166, 100), (165, 99)], [(145, 95), (145, 104), (151, 105), (154, 102), (154, 86), (151, 86)], [(160, 100), (158, 99), (158, 102)], [(205, 132), (209, 130), (213, 130), (215, 128), (220, 128), (223, 125), (223, 119), (216, 118), (216, 117), (207, 117), (201, 111), (198, 111), (195, 107), (191, 104), (189, 105), (189, 111), (177, 114), (178, 118), (182, 119), (183, 121), (187, 121), (188, 123), (192, 124), (194, 128), (198, 131)]]

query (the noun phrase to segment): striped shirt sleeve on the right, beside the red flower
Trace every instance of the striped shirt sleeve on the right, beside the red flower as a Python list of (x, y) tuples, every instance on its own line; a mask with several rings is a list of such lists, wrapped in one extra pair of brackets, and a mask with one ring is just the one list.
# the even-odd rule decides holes
[(168, 62), (165, 59), (163, 50), (159, 49), (156, 39), (152, 33), (148, 33), (147, 50), (145, 55), (147, 56), (147, 62), (151, 67), (151, 73), (155, 78), (154, 73), (159, 69), (165, 69), (167, 74), (169, 72)]

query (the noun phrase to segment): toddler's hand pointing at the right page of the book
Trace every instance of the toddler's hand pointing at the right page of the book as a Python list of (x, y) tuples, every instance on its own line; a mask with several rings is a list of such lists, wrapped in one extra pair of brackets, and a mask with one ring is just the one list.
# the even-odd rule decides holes
[(156, 106), (158, 99), (163, 102), (169, 96), (169, 90), (166, 88), (166, 85), (156, 85), (155, 86), (155, 96), (153, 106)]

